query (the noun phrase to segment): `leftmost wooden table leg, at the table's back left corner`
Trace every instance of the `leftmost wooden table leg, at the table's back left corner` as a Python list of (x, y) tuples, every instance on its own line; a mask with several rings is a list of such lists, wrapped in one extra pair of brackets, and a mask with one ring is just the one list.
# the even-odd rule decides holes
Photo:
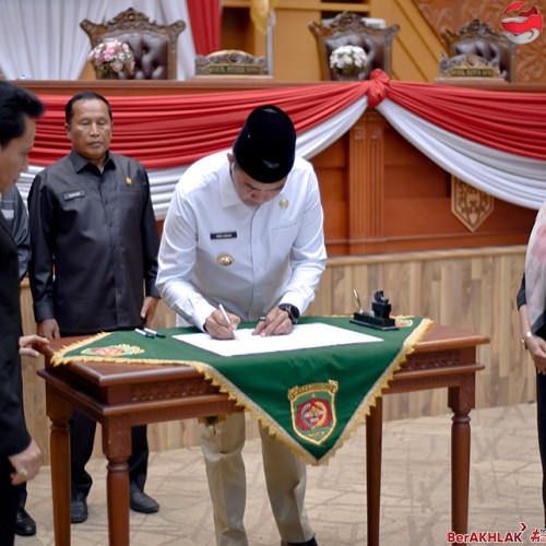
[(55, 544), (70, 546), (70, 435), (72, 407), (46, 383), (47, 415), (51, 420), (50, 458)]

